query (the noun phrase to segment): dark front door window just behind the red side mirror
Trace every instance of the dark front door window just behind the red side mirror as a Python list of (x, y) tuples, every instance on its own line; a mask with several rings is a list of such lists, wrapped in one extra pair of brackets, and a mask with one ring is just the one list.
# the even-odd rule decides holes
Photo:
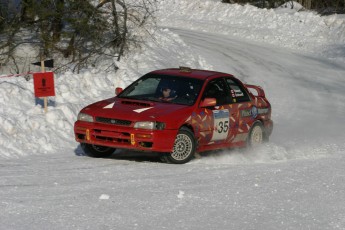
[(207, 84), (202, 98), (206, 97), (216, 98), (217, 105), (231, 103), (231, 97), (223, 78), (212, 80)]

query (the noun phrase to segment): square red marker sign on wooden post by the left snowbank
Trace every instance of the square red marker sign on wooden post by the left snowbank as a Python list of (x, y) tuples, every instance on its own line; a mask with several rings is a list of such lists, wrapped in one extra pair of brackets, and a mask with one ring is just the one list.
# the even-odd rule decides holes
[(54, 73), (34, 73), (35, 97), (55, 96)]

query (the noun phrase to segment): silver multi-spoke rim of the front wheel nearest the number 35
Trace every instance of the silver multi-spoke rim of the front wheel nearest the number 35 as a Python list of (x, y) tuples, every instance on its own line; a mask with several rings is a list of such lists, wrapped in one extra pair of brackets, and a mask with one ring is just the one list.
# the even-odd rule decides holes
[(193, 150), (193, 142), (186, 134), (178, 134), (171, 157), (177, 161), (187, 159)]

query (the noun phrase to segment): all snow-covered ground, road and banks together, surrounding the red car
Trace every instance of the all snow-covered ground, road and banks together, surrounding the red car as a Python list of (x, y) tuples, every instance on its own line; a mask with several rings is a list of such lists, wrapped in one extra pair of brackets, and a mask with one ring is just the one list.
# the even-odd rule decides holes
[[(47, 114), (32, 80), (0, 78), (0, 229), (345, 229), (344, 17), (219, 2), (160, 1), (145, 47), (116, 74), (55, 76)], [(82, 107), (179, 65), (261, 85), (270, 142), (182, 166), (83, 155), (73, 135)]]

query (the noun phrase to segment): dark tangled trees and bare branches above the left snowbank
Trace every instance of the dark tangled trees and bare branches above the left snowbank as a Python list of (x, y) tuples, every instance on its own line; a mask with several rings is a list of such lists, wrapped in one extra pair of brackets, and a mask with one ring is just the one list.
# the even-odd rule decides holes
[[(0, 63), (23, 72), (54, 58), (57, 69), (79, 71), (140, 46), (153, 23), (156, 0), (22, 0), (14, 14), (0, 11)], [(5, 12), (5, 13), (3, 13)]]

